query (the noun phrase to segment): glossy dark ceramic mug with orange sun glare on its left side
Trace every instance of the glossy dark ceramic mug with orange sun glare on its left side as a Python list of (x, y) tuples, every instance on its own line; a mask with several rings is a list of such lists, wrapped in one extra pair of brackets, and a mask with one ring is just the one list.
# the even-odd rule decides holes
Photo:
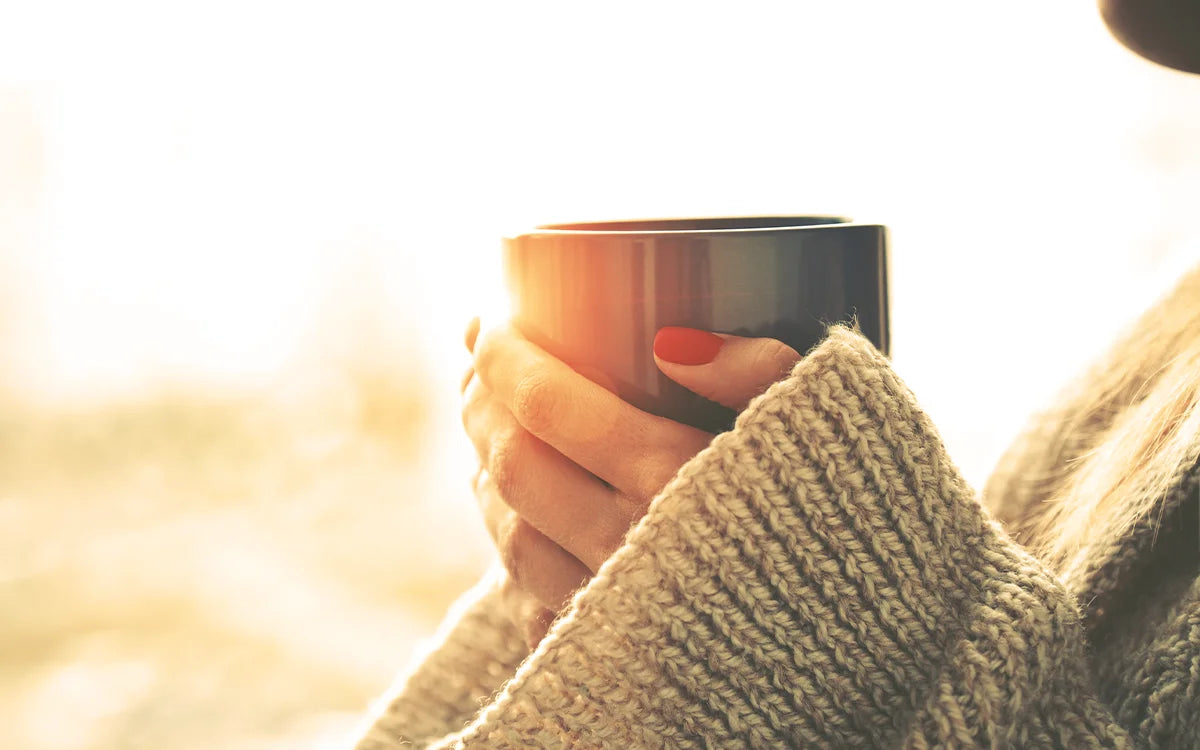
[(804, 353), (857, 319), (888, 353), (887, 228), (824, 216), (551, 224), (504, 239), (517, 326), (634, 406), (719, 432), (733, 412), (670, 380), (654, 335), (683, 325)]

